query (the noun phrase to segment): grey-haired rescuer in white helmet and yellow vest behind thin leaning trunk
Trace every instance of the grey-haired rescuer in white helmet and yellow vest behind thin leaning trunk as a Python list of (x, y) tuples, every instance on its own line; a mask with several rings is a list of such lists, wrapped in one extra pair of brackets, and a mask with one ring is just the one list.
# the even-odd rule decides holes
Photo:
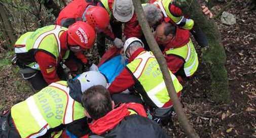
[[(156, 120), (159, 121), (160, 118), (169, 117), (173, 111), (172, 102), (163, 80), (163, 74), (153, 53), (143, 49), (143, 43), (140, 39), (131, 37), (125, 41), (124, 55), (129, 59), (129, 64), (108, 87), (115, 103), (142, 103), (138, 102), (141, 100), (136, 96), (118, 94), (127, 88), (133, 87), (141, 95), (145, 104), (150, 107), (150, 111)], [(182, 86), (175, 75), (171, 71), (169, 72), (179, 97)]]

